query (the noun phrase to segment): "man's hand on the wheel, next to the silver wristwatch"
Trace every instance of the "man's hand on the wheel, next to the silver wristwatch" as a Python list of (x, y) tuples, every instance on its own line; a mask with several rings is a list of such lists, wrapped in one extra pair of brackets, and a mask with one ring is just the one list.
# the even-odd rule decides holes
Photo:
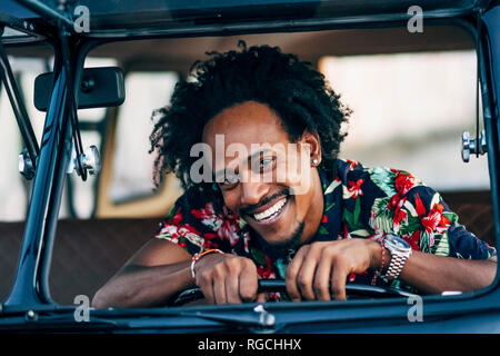
[(347, 276), (379, 268), (381, 255), (380, 245), (370, 239), (304, 245), (287, 268), (287, 291), (293, 301), (330, 300), (331, 294), (334, 299), (343, 300)]

